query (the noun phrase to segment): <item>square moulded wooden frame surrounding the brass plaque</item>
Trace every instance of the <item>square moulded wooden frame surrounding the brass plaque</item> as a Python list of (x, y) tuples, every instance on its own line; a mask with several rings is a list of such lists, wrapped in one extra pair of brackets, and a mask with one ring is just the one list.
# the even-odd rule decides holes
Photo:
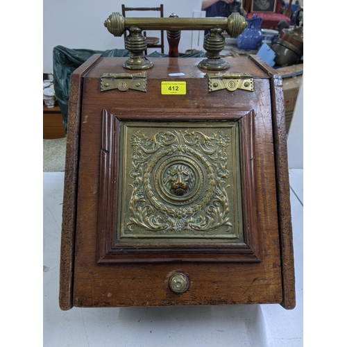
[[(257, 221), (257, 201), (254, 173), (255, 142), (253, 110), (175, 110), (171, 114), (142, 116), (127, 110), (103, 110), (100, 164), (98, 263), (126, 262), (260, 262), (260, 230)], [(153, 113), (153, 110), (151, 110)], [(189, 121), (187, 121), (189, 119)], [(239, 159), (243, 237), (241, 242), (122, 242), (115, 229), (119, 227), (119, 177), (121, 155), (121, 124), (132, 121), (236, 122), (239, 129)], [(124, 124), (124, 123), (123, 123)], [(192, 124), (192, 123), (190, 123)]]

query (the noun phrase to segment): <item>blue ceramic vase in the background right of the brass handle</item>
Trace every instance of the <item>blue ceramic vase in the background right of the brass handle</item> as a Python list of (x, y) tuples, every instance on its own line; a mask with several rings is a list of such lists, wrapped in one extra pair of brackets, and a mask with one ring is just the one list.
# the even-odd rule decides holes
[(256, 14), (252, 19), (246, 19), (248, 24), (244, 32), (237, 36), (237, 48), (243, 51), (257, 51), (262, 45), (262, 31), (260, 26), (262, 25), (262, 18), (258, 18)]

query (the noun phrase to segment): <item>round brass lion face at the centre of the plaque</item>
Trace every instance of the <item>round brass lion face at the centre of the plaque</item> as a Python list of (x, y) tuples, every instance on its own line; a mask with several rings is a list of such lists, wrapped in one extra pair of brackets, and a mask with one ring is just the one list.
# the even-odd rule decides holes
[(187, 165), (174, 164), (164, 173), (164, 185), (171, 194), (183, 196), (194, 187), (195, 178)]

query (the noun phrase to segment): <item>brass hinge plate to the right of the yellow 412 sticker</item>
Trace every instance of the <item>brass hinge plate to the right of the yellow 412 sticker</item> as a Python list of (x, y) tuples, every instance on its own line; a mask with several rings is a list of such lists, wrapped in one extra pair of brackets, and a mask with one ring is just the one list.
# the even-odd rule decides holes
[(248, 90), (253, 92), (253, 76), (251, 74), (207, 74), (208, 91), (227, 89), (234, 92), (237, 89)]

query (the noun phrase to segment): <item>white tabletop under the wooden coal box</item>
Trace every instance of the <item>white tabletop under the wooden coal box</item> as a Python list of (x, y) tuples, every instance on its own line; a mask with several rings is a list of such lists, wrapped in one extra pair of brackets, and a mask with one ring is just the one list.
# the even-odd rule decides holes
[[(289, 171), (291, 193), (303, 170)], [(44, 346), (303, 346), (303, 205), (291, 194), (296, 308), (280, 305), (78, 308), (58, 305), (63, 173), (44, 173)]]

